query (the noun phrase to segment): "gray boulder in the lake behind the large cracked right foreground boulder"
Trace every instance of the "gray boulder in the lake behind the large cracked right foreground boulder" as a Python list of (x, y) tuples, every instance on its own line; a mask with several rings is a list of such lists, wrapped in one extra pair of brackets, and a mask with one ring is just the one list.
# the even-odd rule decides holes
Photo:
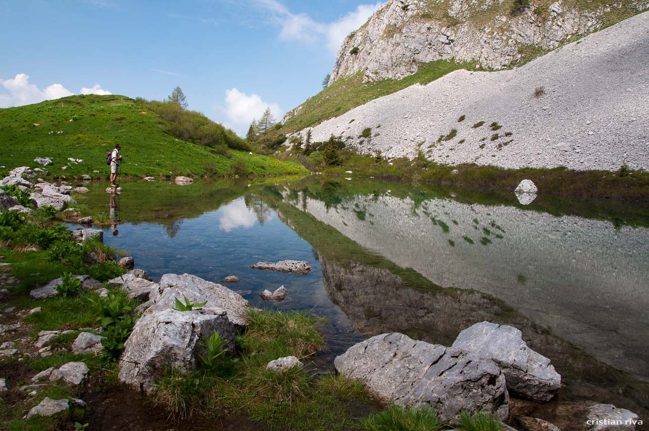
[(493, 360), (506, 376), (511, 393), (548, 401), (561, 387), (561, 376), (550, 360), (530, 349), (513, 326), (476, 323), (460, 332), (452, 347)]

